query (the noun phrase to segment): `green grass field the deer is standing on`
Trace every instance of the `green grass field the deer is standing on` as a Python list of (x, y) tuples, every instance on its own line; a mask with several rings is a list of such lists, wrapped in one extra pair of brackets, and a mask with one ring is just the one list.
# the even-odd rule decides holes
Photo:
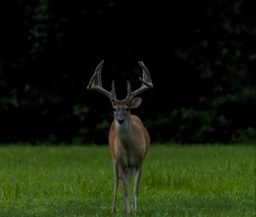
[[(0, 146), (0, 183), (1, 217), (123, 216), (108, 146)], [(256, 216), (255, 147), (153, 145), (139, 199), (138, 216)]]

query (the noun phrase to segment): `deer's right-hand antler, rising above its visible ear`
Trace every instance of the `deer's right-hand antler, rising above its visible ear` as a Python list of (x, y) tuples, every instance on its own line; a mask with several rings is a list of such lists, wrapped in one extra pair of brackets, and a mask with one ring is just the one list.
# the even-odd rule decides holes
[(143, 68), (143, 78), (139, 77), (140, 81), (143, 84), (139, 89), (137, 89), (131, 93), (131, 83), (129, 81), (127, 81), (127, 96), (126, 96), (125, 100), (128, 102), (130, 102), (135, 96), (137, 96), (137, 94), (141, 94), (145, 90), (153, 88), (153, 83), (151, 81), (151, 77), (150, 77), (147, 67), (141, 61), (139, 61), (138, 64)]

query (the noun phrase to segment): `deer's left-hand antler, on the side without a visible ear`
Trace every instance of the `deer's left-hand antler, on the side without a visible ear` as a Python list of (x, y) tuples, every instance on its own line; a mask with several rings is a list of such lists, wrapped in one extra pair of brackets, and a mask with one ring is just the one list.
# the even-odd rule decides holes
[(87, 86), (87, 89), (95, 90), (100, 94), (106, 95), (110, 100), (116, 100), (115, 88), (114, 88), (114, 81), (112, 82), (112, 89), (109, 92), (106, 89), (102, 88), (102, 67), (103, 67), (104, 60), (96, 67), (96, 70), (93, 76), (90, 78), (90, 83)]

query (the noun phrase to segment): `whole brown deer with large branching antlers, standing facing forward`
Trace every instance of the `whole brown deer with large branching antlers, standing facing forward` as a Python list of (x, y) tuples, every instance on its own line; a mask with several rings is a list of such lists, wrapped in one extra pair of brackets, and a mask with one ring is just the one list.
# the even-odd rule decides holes
[(142, 86), (131, 92), (131, 83), (127, 81), (127, 96), (125, 100), (117, 100), (114, 81), (112, 89), (109, 92), (102, 88), (102, 66), (104, 60), (96, 66), (93, 76), (87, 89), (107, 96), (113, 107), (113, 123), (110, 126), (108, 134), (108, 144), (113, 159), (113, 205), (112, 213), (115, 212), (117, 191), (119, 180), (122, 180), (125, 214), (131, 213), (131, 204), (129, 198), (129, 181), (134, 175), (134, 209), (137, 213), (139, 183), (143, 171), (143, 159), (146, 156), (150, 146), (150, 136), (147, 128), (144, 127), (142, 120), (136, 115), (131, 114), (131, 109), (135, 109), (142, 103), (141, 97), (136, 97), (144, 91), (153, 88), (149, 71), (142, 61), (138, 64), (143, 68), (143, 78), (139, 77)]

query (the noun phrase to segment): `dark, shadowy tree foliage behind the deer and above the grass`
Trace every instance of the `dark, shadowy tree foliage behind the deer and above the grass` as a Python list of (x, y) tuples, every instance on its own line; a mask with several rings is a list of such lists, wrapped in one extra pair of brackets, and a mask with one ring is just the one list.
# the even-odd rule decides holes
[(109, 100), (141, 83), (136, 111), (154, 142), (234, 143), (256, 137), (253, 1), (0, 2), (0, 142), (108, 143)]

